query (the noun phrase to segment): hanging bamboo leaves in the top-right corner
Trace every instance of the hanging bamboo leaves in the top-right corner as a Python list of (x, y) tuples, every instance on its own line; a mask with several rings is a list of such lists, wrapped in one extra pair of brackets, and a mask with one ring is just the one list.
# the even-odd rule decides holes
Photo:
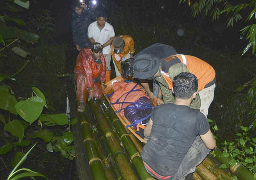
[[(180, 0), (184, 3), (186, 0)], [(243, 29), (241, 35), (246, 36), (248, 40), (247, 46), (244, 48), (242, 55), (244, 55), (250, 47), (252, 53), (255, 55), (256, 49), (256, 6), (255, 0), (250, 0), (248, 3), (241, 3), (241, 1), (228, 1), (228, 0), (189, 0), (189, 6), (192, 9), (192, 16), (198, 14), (204, 16), (212, 16), (212, 20), (218, 20), (221, 15), (227, 17), (227, 27), (233, 27), (235, 23), (243, 21)]]

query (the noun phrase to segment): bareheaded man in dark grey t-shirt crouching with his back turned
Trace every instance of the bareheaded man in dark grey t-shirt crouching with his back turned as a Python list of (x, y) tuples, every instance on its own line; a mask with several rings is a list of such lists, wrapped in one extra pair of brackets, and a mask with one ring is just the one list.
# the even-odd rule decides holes
[(175, 76), (175, 103), (154, 109), (144, 130), (148, 141), (141, 157), (146, 170), (160, 180), (179, 180), (194, 172), (215, 147), (207, 118), (189, 108), (197, 89), (198, 80), (192, 73)]

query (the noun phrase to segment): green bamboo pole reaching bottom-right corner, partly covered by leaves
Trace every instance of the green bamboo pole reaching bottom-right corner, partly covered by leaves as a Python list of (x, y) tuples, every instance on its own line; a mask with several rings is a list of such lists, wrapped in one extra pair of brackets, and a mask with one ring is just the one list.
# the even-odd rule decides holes
[(247, 168), (245, 168), (243, 165), (229, 165), (229, 157), (223, 157), (223, 152), (219, 149), (215, 149), (216, 159), (221, 162), (222, 164), (226, 164), (227, 167), (230, 167), (230, 171), (237, 175), (239, 180), (256, 180), (254, 178), (253, 173), (251, 173)]

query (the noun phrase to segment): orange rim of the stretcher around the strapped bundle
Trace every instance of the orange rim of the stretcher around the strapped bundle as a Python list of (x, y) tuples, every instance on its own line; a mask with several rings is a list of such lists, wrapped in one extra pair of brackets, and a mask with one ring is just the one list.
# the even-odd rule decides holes
[[(106, 96), (106, 95), (109, 95), (109, 94), (111, 94), (111, 93), (113, 92), (113, 83), (114, 83), (114, 82), (119, 82), (119, 81), (125, 81), (125, 78), (122, 78), (122, 76), (118, 76), (118, 77), (113, 78), (112, 80), (108, 81), (108, 83), (105, 84), (105, 85), (106, 85), (106, 88), (105, 88), (105, 90), (103, 91), (103, 93), (104, 93), (104, 95), (105, 95), (105, 97), (106, 97), (106, 99), (107, 99), (107, 101), (108, 101), (109, 103), (111, 103), (111, 102), (110, 102), (110, 99), (109, 99), (108, 96)], [(141, 90), (145, 93), (145, 95), (147, 95), (147, 93), (146, 93), (146, 91), (144, 90), (144, 88), (143, 88), (140, 84), (139, 84), (139, 86), (140, 86)], [(152, 103), (153, 103), (154, 106), (157, 105), (157, 99), (154, 98), (154, 99), (151, 99), (151, 101), (152, 101)], [(110, 104), (110, 105), (111, 105), (111, 104)], [(113, 105), (111, 105), (111, 107), (112, 107), (112, 109), (116, 112), (116, 108), (115, 108)], [(125, 116), (121, 116), (119, 113), (116, 113), (116, 116), (120, 119), (120, 121), (122, 122), (122, 124), (123, 124), (125, 127), (126, 127), (127, 125), (131, 125), (131, 123), (128, 121), (128, 119), (125, 118)], [(141, 137), (141, 136), (139, 136), (138, 134), (136, 134), (137, 129), (135, 129), (133, 126), (128, 127), (127, 129), (128, 129), (129, 131), (131, 131), (131, 133), (134, 134), (134, 136), (135, 136), (137, 139), (139, 139), (141, 142), (146, 142), (146, 141), (143, 139), (143, 137)]]

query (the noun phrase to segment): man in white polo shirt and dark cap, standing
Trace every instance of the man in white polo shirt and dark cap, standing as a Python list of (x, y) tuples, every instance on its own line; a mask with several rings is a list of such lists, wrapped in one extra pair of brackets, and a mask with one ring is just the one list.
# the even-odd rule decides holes
[(97, 20), (93, 23), (91, 23), (88, 27), (88, 38), (91, 44), (98, 42), (102, 44), (103, 48), (103, 55), (106, 60), (106, 82), (110, 81), (110, 75), (111, 75), (111, 54), (110, 44), (113, 41), (113, 38), (115, 37), (115, 32), (113, 29), (113, 26), (106, 22), (107, 15), (104, 11), (99, 11), (97, 15)]

